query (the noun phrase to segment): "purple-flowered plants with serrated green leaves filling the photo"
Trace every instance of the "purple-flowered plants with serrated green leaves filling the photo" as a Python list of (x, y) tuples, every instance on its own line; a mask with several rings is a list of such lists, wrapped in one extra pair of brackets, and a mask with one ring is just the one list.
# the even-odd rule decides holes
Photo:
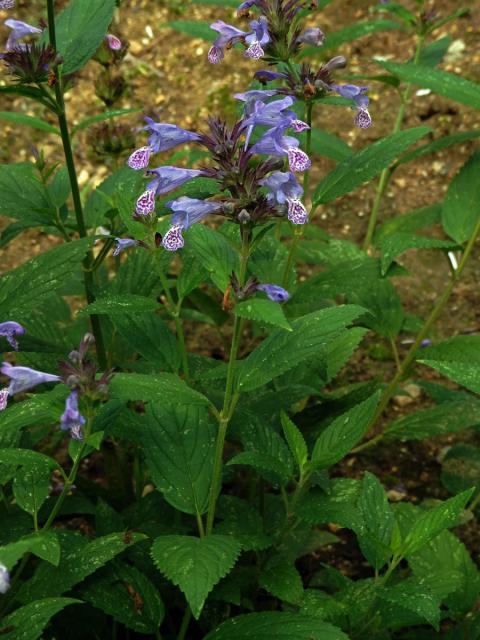
[[(200, 33), (209, 72), (235, 56), (248, 69), (236, 116), (196, 130), (151, 114), (132, 132), (111, 110), (135, 61), (115, 1), (54, 4), (32, 25), (0, 1), (0, 95), (42, 114), (6, 117), (56, 136), (65, 161), (35, 149), (0, 166), (0, 213), (17, 219), (2, 245), (29, 227), (56, 245), (0, 281), (0, 635), (476, 637), (480, 573), (461, 538), (478, 527), (480, 337), (436, 322), (480, 234), (480, 155), (441, 203), (399, 213), (386, 197), (404, 165), (479, 135), (405, 127), (426, 93), (480, 108), (477, 84), (437, 68), (450, 40), (435, 32), (465, 12), (380, 2), (331, 34), (328, 0), (247, 0), (235, 25), (219, 8)], [(410, 61), (352, 75), (330, 57), (385, 29), (415, 41)], [(65, 95), (90, 59), (107, 110), (72, 127)], [(319, 128), (329, 109), (358, 150)], [(95, 122), (110, 174), (81, 190), (72, 140)], [(334, 237), (332, 203), (368, 182), (363, 242)], [(424, 314), (400, 278), (412, 249), (443, 278)], [(405, 459), (441, 477), (410, 482)]]

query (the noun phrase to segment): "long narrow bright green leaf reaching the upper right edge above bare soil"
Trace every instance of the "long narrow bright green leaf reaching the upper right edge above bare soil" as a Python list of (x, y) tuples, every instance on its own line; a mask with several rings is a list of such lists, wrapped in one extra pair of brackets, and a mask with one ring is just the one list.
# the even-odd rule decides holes
[(404, 64), (385, 60), (375, 60), (375, 62), (405, 82), (431, 89), (445, 98), (480, 109), (480, 85), (470, 80), (412, 62)]

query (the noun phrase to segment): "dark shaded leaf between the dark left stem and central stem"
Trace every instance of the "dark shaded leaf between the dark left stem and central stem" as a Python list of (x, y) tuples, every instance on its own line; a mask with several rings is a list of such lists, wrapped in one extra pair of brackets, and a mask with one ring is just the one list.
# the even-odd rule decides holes
[(120, 336), (145, 360), (159, 369), (178, 373), (181, 356), (177, 340), (158, 315), (121, 315), (112, 317)]

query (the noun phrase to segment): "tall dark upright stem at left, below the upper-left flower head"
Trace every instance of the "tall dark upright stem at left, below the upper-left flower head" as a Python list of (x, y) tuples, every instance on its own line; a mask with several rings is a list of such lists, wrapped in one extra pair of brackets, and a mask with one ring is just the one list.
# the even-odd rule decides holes
[[(47, 0), (48, 10), (48, 35), (51, 46), (57, 49), (57, 39), (55, 32), (55, 6), (54, 0)], [(75, 217), (77, 220), (77, 228), (81, 238), (87, 237), (87, 229), (85, 226), (85, 218), (83, 215), (82, 200), (80, 197), (80, 189), (78, 186), (77, 172), (75, 169), (75, 160), (73, 158), (72, 144), (70, 139), (70, 131), (68, 128), (67, 116), (65, 112), (65, 101), (63, 99), (63, 83), (61, 78), (61, 71), (58, 66), (54, 69), (56, 74), (55, 82), (55, 100), (56, 100), (56, 113), (58, 119), (58, 126), (60, 128), (60, 134), (62, 137), (63, 152), (65, 155), (65, 164), (67, 166), (68, 177), (70, 179), (70, 188), (72, 191), (73, 207), (75, 210)], [(83, 279), (85, 285), (85, 294), (88, 304), (95, 302), (94, 294), (94, 280), (93, 274), (90, 271), (90, 266), (93, 263), (93, 252), (90, 249), (83, 260), (84, 272)], [(92, 333), (95, 336), (95, 345), (97, 349), (98, 362), (102, 369), (107, 366), (107, 358), (105, 353), (105, 346), (103, 342), (102, 327), (100, 324), (100, 318), (97, 315), (90, 316), (90, 322), (92, 325)]]

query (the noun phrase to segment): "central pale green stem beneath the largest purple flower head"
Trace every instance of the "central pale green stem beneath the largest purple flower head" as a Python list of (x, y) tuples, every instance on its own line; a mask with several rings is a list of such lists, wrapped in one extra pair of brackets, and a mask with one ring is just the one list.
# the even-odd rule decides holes
[[(242, 252), (240, 260), (240, 274), (239, 284), (243, 286), (245, 284), (245, 277), (247, 274), (247, 262), (250, 255), (250, 233), (244, 229), (241, 229), (242, 233)], [(223, 449), (225, 446), (225, 438), (227, 435), (228, 423), (232, 417), (233, 410), (238, 401), (238, 394), (233, 393), (235, 382), (235, 365), (237, 361), (238, 348), (240, 346), (240, 337), (242, 333), (243, 323), (241, 319), (236, 315), (233, 324), (233, 336), (232, 344), (230, 347), (230, 357), (228, 360), (227, 381), (225, 384), (225, 395), (223, 398), (223, 408), (219, 415), (218, 420), (218, 433), (215, 443), (215, 454), (213, 462), (212, 483), (210, 485), (210, 494), (208, 499), (208, 512), (207, 512), (207, 528), (206, 533), (209, 535), (213, 529), (213, 522), (215, 519), (215, 508), (217, 504), (217, 497), (220, 490), (222, 481), (222, 467), (223, 467)]]

